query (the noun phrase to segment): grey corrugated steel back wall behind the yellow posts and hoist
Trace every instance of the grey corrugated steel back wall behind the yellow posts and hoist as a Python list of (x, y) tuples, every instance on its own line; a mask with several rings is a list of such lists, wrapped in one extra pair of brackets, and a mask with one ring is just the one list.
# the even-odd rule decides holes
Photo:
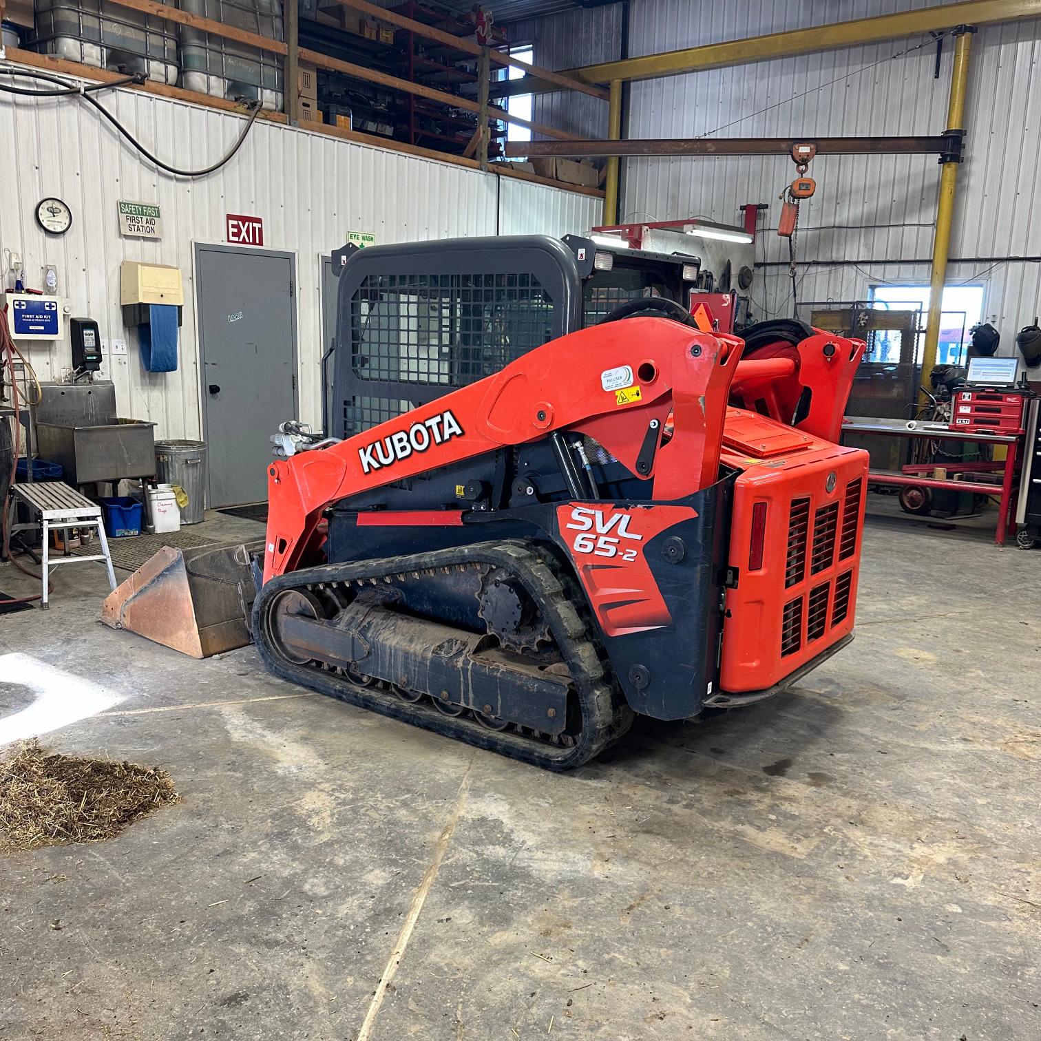
[[(720, 6), (631, 0), (629, 52), (638, 56), (939, 2), (736, 0)], [(586, 14), (599, 16), (604, 27), (616, 17), (612, 7)], [(558, 22), (543, 24), (552, 28)], [(935, 44), (909, 50), (921, 43), (895, 40), (635, 82), (629, 88), (628, 135), (939, 133), (954, 42), (943, 41), (939, 78), (934, 78)], [(986, 26), (972, 40), (966, 159), (959, 171), (951, 242), (951, 255), (961, 259), (951, 265), (948, 282), (986, 286), (985, 309), (1006, 333), (1002, 349), (1011, 349), (1015, 330), (1041, 310), (1039, 56), (1039, 20)], [(568, 64), (584, 62), (559, 62)], [(574, 129), (602, 135), (603, 127), (590, 122)], [(787, 243), (772, 231), (778, 196), (794, 176), (790, 160), (654, 158), (630, 159), (625, 167), (621, 212), (628, 220), (704, 214), (734, 223), (741, 203), (768, 203), (760, 259), (784, 265), (757, 273), (753, 298), (760, 312), (790, 313)], [(801, 300), (862, 299), (871, 284), (929, 281), (939, 182), (935, 157), (821, 157), (810, 172), (817, 194), (803, 206), (798, 256), (841, 265), (802, 269)], [(1034, 259), (1010, 259), (1017, 257)]]

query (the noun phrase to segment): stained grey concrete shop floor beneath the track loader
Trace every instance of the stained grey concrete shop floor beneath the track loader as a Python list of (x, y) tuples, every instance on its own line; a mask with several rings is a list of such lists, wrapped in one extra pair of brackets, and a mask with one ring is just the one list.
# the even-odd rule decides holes
[(1039, 565), (874, 522), (852, 648), (565, 777), (110, 632), (59, 570), (0, 623), (8, 734), (57, 676), (94, 714), (46, 742), (183, 802), (0, 860), (0, 1038), (1036, 1041)]

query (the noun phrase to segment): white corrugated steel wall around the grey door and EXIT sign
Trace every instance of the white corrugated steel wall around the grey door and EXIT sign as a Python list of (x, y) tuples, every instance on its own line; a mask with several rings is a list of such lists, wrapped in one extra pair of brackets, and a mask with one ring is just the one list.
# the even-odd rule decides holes
[[(242, 129), (239, 118), (178, 101), (129, 91), (100, 97), (146, 146), (182, 168), (213, 161)], [(588, 196), (263, 122), (254, 124), (228, 166), (200, 180), (156, 173), (81, 102), (5, 95), (0, 141), (8, 156), (0, 177), (0, 247), (22, 255), (26, 283), (33, 287), (42, 284), (42, 266), (55, 264), (71, 313), (96, 319), (107, 339), (128, 340), (128, 355), (109, 359), (120, 412), (157, 423), (162, 437), (200, 435), (194, 244), (223, 243), (226, 213), (260, 217), (264, 247), (297, 254), (301, 417), (315, 424), (319, 258), (341, 246), (348, 231), (375, 232), (379, 243), (563, 234), (588, 230), (601, 213), (601, 201)], [(46, 235), (33, 218), (48, 195), (72, 208), (72, 229), (61, 237)], [(160, 242), (121, 237), (121, 199), (161, 206)], [(123, 260), (173, 264), (182, 273), (185, 307), (174, 373), (146, 372), (136, 331), (123, 326)], [(31, 342), (29, 357), (41, 379), (60, 379), (71, 365), (67, 341)]]

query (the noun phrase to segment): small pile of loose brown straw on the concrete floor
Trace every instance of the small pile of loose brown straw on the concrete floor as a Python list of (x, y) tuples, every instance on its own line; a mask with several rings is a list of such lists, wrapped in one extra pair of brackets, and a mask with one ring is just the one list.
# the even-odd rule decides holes
[(0, 763), (0, 849), (101, 842), (179, 797), (157, 766), (64, 756), (29, 741)]

